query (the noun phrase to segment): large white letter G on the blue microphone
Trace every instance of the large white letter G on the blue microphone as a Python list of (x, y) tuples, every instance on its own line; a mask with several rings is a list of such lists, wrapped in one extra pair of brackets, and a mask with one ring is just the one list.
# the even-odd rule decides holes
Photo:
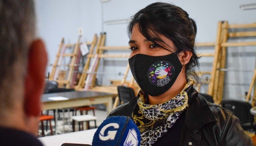
[(116, 129), (118, 129), (119, 125), (117, 123), (109, 123), (109, 124), (105, 125), (104, 127), (102, 127), (102, 129), (100, 130), (100, 134), (99, 134), (100, 140), (107, 141), (107, 140), (115, 139), (117, 130), (108, 131), (107, 135), (104, 135), (104, 133), (108, 127), (114, 127)]

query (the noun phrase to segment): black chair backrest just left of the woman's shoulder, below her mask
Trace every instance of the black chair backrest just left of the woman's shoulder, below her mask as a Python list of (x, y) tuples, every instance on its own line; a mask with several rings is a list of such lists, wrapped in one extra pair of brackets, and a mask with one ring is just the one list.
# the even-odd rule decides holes
[(117, 86), (118, 97), (123, 104), (132, 100), (135, 97), (134, 90), (127, 86)]

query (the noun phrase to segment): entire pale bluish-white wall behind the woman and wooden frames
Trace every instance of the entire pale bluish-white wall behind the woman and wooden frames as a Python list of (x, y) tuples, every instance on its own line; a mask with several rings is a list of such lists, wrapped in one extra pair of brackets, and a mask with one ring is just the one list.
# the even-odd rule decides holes
[[(156, 0), (110, 0), (100, 3), (100, 0), (36, 0), (38, 14), (38, 35), (46, 42), (50, 63), (55, 60), (61, 37), (69, 42), (76, 42), (77, 28), (83, 27), (87, 41), (92, 40), (94, 33), (107, 33), (106, 46), (127, 46), (127, 24), (107, 25), (106, 21), (126, 20), (148, 4)], [(196, 20), (198, 33), (197, 42), (214, 42), (218, 21), (228, 21), (230, 24), (245, 24), (256, 22), (256, 9), (241, 10), (241, 4), (255, 3), (255, 0), (163, 0), (173, 3), (188, 12)], [(198, 48), (198, 52), (212, 52), (213, 48)], [(107, 52), (109, 53), (109, 52)], [(113, 52), (110, 52), (113, 53)], [(118, 53), (118, 52), (117, 52)], [(123, 52), (122, 52), (123, 53)], [(129, 51), (126, 51), (129, 54)], [(210, 71), (211, 58), (200, 59), (201, 70)], [(105, 59), (100, 66), (100, 72), (124, 73), (127, 59)], [(255, 47), (236, 47), (228, 49), (228, 68), (253, 70), (255, 65)], [(49, 67), (48, 71), (51, 71)], [(117, 74), (98, 75), (99, 84), (109, 84), (109, 79), (122, 79)], [(128, 79), (131, 78), (131, 73)], [(228, 72), (225, 78), (224, 97), (241, 98), (248, 90), (252, 72)], [(205, 87), (207, 89), (207, 87)], [(206, 90), (205, 89), (205, 90)], [(205, 91), (204, 91), (205, 92)]]

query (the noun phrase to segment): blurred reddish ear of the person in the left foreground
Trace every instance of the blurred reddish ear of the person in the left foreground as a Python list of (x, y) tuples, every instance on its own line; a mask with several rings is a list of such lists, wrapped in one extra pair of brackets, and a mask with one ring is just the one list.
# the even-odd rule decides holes
[(27, 116), (39, 116), (41, 111), (41, 95), (44, 88), (47, 53), (44, 42), (34, 41), (28, 53), (28, 68), (25, 78), (24, 108)]

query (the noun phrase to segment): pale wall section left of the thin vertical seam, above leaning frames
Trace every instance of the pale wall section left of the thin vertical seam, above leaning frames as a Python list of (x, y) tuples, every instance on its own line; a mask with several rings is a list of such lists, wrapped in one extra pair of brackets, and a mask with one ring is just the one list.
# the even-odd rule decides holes
[[(76, 43), (78, 28), (83, 28), (81, 42), (92, 41), (101, 31), (101, 3), (98, 0), (36, 0), (37, 33), (48, 50), (49, 64), (56, 58), (61, 38)], [(51, 72), (52, 67), (47, 68)]]

